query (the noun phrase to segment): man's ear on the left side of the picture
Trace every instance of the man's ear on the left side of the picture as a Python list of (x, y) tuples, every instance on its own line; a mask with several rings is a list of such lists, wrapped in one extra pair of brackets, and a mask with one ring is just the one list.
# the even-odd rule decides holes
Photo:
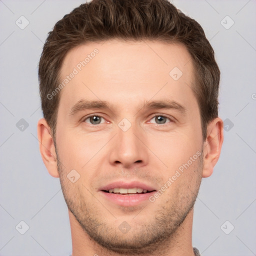
[(59, 177), (57, 171), (57, 156), (51, 130), (44, 118), (41, 118), (37, 123), (37, 136), (44, 165), (51, 176)]

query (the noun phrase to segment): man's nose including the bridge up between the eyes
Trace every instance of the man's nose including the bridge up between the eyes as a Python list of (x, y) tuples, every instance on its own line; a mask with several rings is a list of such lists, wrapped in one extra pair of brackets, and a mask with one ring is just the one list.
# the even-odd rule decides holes
[[(116, 136), (110, 152), (110, 161), (113, 164), (122, 164), (128, 167), (147, 162), (146, 147), (143, 145), (143, 131), (135, 121), (132, 123), (123, 118), (116, 127)], [(141, 139), (141, 140), (140, 140)]]

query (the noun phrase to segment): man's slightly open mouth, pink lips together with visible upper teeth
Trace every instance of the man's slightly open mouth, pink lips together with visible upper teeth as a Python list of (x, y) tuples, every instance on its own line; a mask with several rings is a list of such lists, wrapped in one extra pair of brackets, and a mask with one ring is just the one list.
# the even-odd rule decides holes
[(124, 181), (113, 182), (99, 189), (107, 202), (121, 206), (136, 206), (149, 202), (148, 197), (155, 191), (154, 187), (141, 182), (126, 183)]

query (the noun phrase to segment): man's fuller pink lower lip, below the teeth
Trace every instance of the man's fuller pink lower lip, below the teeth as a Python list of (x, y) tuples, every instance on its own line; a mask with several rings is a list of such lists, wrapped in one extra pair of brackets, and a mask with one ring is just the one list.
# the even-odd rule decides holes
[(107, 193), (103, 191), (99, 191), (102, 196), (104, 196), (107, 200), (121, 205), (121, 206), (136, 206), (143, 201), (149, 201), (148, 197), (150, 195), (153, 195), (155, 191), (148, 192), (148, 193), (143, 193), (143, 194), (132, 194), (132, 195), (127, 195), (127, 194), (115, 194), (115, 193)]

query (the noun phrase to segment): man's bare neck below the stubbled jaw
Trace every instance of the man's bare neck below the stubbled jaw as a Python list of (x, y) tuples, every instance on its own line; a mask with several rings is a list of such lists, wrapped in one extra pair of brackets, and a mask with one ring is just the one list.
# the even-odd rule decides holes
[[(80, 226), (73, 214), (68, 210), (71, 238), (72, 238), (72, 256), (133, 256), (134, 254), (119, 254), (102, 247), (94, 241)], [(184, 221), (176, 231), (155, 246), (155, 251), (140, 256), (193, 256), (192, 248), (192, 217), (193, 209), (187, 214)], [(106, 234), (107, 235), (107, 234)], [(136, 254), (138, 255), (138, 254)]]

